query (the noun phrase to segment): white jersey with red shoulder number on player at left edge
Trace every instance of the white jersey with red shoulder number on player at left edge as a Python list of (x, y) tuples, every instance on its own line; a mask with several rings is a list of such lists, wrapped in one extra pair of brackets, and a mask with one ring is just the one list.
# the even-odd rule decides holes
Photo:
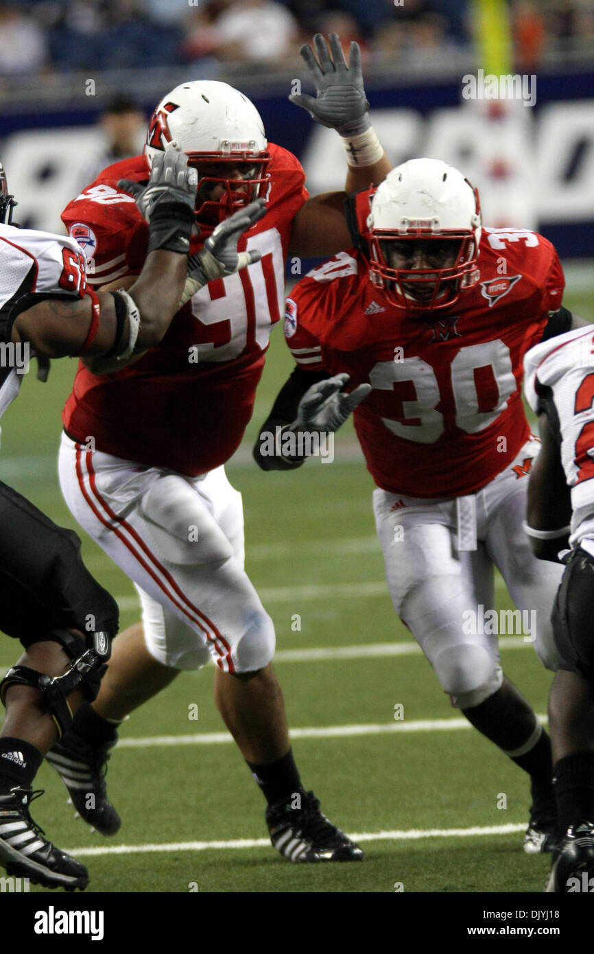
[(82, 298), (85, 257), (67, 236), (0, 224), (0, 417), (29, 370), (29, 344), (10, 342), (16, 316), (43, 298)]

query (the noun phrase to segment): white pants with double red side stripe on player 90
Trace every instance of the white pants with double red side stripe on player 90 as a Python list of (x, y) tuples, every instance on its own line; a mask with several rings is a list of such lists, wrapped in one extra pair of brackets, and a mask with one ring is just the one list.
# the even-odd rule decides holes
[(64, 434), (58, 469), (73, 516), (133, 580), (155, 659), (198, 669), (213, 656), (235, 673), (270, 662), (274, 626), (243, 569), (241, 494), (224, 467), (184, 477)]

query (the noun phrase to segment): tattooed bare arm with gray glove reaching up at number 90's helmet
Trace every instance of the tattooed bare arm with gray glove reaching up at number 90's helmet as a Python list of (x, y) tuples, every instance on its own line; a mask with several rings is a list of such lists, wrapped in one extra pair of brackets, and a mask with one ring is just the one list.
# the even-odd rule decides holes
[(159, 342), (187, 279), (196, 184), (186, 156), (175, 148), (159, 156), (143, 190), (150, 199), (149, 253), (138, 279), (128, 291), (95, 294), (83, 284), (80, 298), (45, 298), (16, 316), (12, 340), (50, 358), (80, 355), (97, 373), (117, 370)]

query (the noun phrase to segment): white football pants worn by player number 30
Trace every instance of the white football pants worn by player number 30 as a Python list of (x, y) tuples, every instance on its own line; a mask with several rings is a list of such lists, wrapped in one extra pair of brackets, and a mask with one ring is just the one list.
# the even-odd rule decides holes
[[(550, 615), (561, 564), (538, 560), (522, 529), (526, 512), (529, 440), (516, 460), (477, 493), (426, 500), (374, 491), (374, 511), (394, 608), (433, 666), (455, 706), (469, 709), (502, 685), (498, 633), (522, 635), (520, 613), (495, 607), (497, 567), (528, 624), (528, 640), (543, 664), (558, 655)], [(517, 469), (514, 470), (514, 467)], [(486, 620), (485, 620), (486, 615)]]

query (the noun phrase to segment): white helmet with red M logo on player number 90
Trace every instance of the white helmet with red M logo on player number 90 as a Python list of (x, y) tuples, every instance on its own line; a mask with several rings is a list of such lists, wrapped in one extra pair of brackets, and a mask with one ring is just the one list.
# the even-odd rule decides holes
[[(204, 224), (208, 231), (255, 198), (266, 197), (270, 154), (264, 125), (254, 104), (233, 86), (199, 79), (163, 96), (149, 123), (149, 165), (172, 141), (198, 170), (196, 218), (203, 234)], [(222, 196), (211, 197), (219, 184)]]

